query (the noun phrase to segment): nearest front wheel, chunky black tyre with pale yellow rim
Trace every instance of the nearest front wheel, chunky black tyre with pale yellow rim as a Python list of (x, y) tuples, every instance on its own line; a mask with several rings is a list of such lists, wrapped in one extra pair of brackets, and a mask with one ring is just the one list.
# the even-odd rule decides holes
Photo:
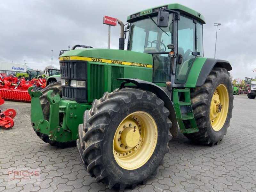
[(84, 168), (98, 182), (120, 191), (156, 173), (169, 151), (169, 111), (152, 92), (117, 89), (94, 100), (78, 127)]

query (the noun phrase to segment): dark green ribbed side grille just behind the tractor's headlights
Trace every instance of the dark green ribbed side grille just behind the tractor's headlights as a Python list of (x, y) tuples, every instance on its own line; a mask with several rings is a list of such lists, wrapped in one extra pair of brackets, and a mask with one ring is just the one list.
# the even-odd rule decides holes
[(91, 64), (91, 99), (100, 99), (104, 93), (104, 65)]

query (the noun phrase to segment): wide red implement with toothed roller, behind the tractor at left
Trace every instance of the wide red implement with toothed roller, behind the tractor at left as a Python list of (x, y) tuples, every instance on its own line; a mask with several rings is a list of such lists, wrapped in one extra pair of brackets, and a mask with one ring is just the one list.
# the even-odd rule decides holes
[[(31, 98), (28, 94), (28, 88), (33, 84), (27, 83), (25, 80), (18, 80), (16, 76), (5, 76), (0, 79), (0, 95), (5, 100), (30, 102)], [(35, 86), (33, 86), (35, 88)]]

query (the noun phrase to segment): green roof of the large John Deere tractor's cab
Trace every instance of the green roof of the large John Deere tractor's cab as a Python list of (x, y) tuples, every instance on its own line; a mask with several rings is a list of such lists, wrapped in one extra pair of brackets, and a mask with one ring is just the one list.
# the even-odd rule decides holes
[(186, 7), (186, 6), (178, 4), (178, 3), (165, 4), (165, 5), (152, 7), (152, 8), (140, 11), (140, 12), (133, 13), (132, 15), (129, 15), (127, 17), (127, 22), (130, 23), (132, 21), (142, 19), (145, 16), (148, 17), (148, 15), (150, 15), (150, 14), (157, 15), (159, 9), (162, 7), (165, 7), (167, 9), (174, 10), (174, 11), (179, 11), (181, 14), (191, 17), (193, 19), (196, 19), (199, 22), (201, 22), (202, 24), (205, 24), (204, 16), (200, 12), (196, 12), (195, 10), (190, 9), (189, 7)]

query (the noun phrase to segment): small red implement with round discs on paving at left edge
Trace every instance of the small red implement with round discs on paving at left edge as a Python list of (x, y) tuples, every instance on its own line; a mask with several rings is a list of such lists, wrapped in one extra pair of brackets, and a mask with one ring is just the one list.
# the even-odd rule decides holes
[[(0, 105), (4, 104), (4, 100), (0, 95)], [(1, 111), (0, 109), (0, 127), (4, 129), (12, 128), (14, 125), (13, 118), (16, 116), (16, 111), (12, 108)]]

